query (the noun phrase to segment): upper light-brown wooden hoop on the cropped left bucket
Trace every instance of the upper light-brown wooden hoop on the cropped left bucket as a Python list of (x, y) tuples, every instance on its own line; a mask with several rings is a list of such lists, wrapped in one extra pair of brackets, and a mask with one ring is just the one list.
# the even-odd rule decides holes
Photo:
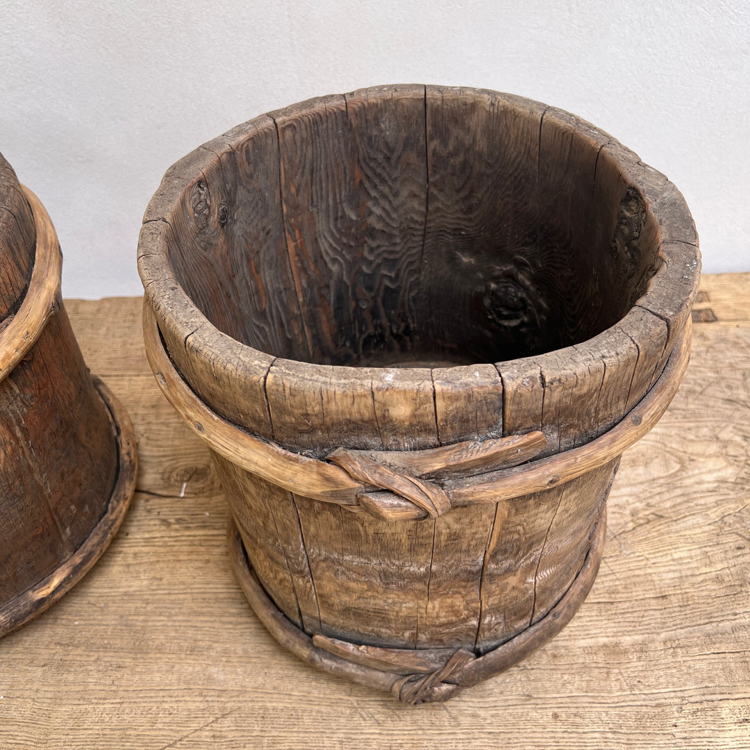
[(0, 331), (0, 382), (10, 374), (39, 338), (47, 318), (59, 307), (62, 253), (52, 219), (40, 199), (23, 187), (37, 228), (34, 270), (23, 302)]

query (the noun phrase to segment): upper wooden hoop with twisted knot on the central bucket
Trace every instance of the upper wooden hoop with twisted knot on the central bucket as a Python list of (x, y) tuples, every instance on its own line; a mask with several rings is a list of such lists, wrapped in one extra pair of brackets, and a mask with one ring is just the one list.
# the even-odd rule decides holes
[[(476, 457), (490, 455), (495, 460), (499, 456), (502, 464), (502, 460), (512, 461), (517, 451), (517, 458), (528, 461), (546, 445), (544, 436), (535, 431), (414, 452), (336, 449), (327, 460), (287, 451), (223, 419), (190, 389), (166, 352), (147, 300), (143, 305), (143, 332), (148, 363), (161, 391), (211, 450), (290, 492), (395, 521), (437, 517), (459, 505), (500, 502), (541, 492), (622, 454), (654, 427), (676, 393), (690, 359), (691, 321), (688, 318), (658, 380), (613, 428), (583, 446), (531, 463), (505, 463), (502, 468), (491, 460), (482, 467)], [(449, 452), (463, 456), (466, 471), (459, 478), (455, 474), (460, 472), (460, 463), (436, 466), (436, 456), (445, 457)], [(415, 471), (419, 473), (413, 474)]]

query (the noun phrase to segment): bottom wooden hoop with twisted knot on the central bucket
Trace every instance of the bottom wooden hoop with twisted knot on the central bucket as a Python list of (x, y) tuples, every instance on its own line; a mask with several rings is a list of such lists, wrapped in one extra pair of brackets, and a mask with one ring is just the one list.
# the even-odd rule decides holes
[(229, 520), (229, 554), (245, 596), (263, 625), (281, 643), (318, 669), (394, 694), (404, 703), (443, 701), (517, 664), (559, 633), (586, 598), (604, 550), (606, 508), (591, 529), (591, 546), (573, 583), (542, 619), (481, 656), (466, 649), (381, 649), (321, 635), (293, 625), (261, 586), (239, 530)]

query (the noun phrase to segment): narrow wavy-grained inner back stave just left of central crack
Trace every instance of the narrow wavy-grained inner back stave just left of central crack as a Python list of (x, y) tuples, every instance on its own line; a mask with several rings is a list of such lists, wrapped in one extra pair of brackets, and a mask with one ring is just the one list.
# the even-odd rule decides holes
[(416, 292), (428, 199), (425, 87), (361, 89), (345, 95), (345, 103), (347, 162), (354, 171), (347, 208), (362, 223), (344, 266), (344, 302), (353, 318), (344, 347), (353, 359), (343, 362), (340, 352), (336, 359), (409, 362), (424, 356), (414, 351), (414, 332), (422, 326)]

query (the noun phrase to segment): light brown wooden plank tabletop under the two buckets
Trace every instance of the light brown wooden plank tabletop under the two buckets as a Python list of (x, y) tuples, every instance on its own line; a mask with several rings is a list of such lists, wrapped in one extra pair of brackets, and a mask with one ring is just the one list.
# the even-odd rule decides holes
[(508, 672), (410, 708), (278, 646), (229, 568), (208, 452), (160, 395), (140, 300), (70, 300), (139, 440), (139, 491), (62, 601), (0, 641), (0, 748), (750, 748), (750, 274), (707, 276), (693, 357), (628, 450), (598, 578)]

